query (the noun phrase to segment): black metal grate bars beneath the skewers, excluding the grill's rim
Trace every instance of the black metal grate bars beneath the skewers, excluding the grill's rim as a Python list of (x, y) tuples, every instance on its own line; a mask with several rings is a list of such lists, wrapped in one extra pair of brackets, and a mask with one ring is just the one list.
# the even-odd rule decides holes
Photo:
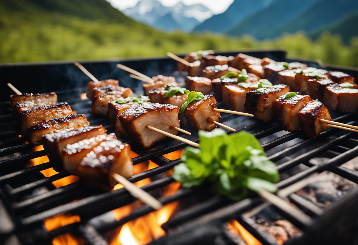
[[(59, 101), (67, 101), (74, 111), (87, 115), (90, 125), (102, 124), (108, 133), (114, 132), (115, 127), (110, 125), (108, 120), (102, 116), (89, 114), (91, 102), (81, 100), (80, 96), (86, 91), (85, 87), (71, 90), (58, 91)], [(60, 188), (55, 188), (53, 181), (68, 176), (67, 173), (58, 173), (51, 177), (45, 177), (39, 171), (53, 167), (53, 163), (47, 162), (29, 168), (24, 168), (30, 159), (44, 156), (44, 150), (33, 152), (32, 144), (24, 144), (24, 139), (18, 137), (13, 129), (14, 119), (8, 109), (9, 102), (0, 102), (2, 115), (0, 115), (1, 125), (4, 128), (0, 132), (0, 198), (3, 201), (11, 219), (15, 223), (15, 230), (10, 233), (18, 235), (24, 244), (39, 244), (50, 242), (60, 234), (72, 232), (81, 236), (88, 244), (106, 244), (103, 234), (113, 230), (128, 221), (134, 220), (153, 211), (148, 206), (142, 206), (133, 210), (129, 215), (120, 220), (108, 221), (101, 225), (92, 224), (91, 220), (108, 211), (132, 203), (136, 198), (132, 197), (125, 189), (117, 189), (111, 192), (97, 192), (90, 190), (80, 182), (74, 182)], [(220, 108), (224, 108), (219, 103)], [(334, 121), (358, 124), (356, 115), (337, 115)], [(260, 139), (263, 148), (269, 155), (270, 160), (276, 163), (281, 177), (285, 172), (294, 169), (297, 165), (304, 164), (307, 169), (294, 173), (290, 177), (282, 178), (277, 183), (280, 190), (290, 188), (301, 180), (312, 176), (315, 173), (330, 171), (345, 179), (358, 184), (358, 173), (354, 170), (341, 166), (343, 163), (358, 156), (357, 134), (346, 132), (339, 129), (330, 128), (319, 135), (317, 139), (310, 139), (300, 131), (287, 133), (275, 124), (258, 122), (257, 120), (245, 117), (238, 117), (222, 114), (221, 121), (237, 130), (247, 130)], [(184, 128), (190, 131), (189, 128)], [(231, 131), (227, 131), (229, 134)], [(185, 138), (198, 142), (197, 133), (192, 136), (185, 135)], [(126, 141), (127, 139), (123, 139)], [(129, 142), (130, 143), (130, 142)], [(129, 179), (132, 183), (148, 177), (157, 176), (180, 162), (180, 159), (170, 160), (163, 157), (164, 154), (183, 149), (184, 143), (178, 143), (172, 139), (155, 145), (155, 150), (148, 151), (137, 147), (132, 150), (139, 156), (132, 159), (133, 164), (139, 164), (151, 160), (159, 167), (146, 170), (136, 174)], [(329, 158), (323, 158), (327, 157)], [(141, 187), (145, 191), (154, 191), (173, 183), (172, 177), (159, 178)], [(34, 194), (37, 189), (46, 187), (47, 192)], [(160, 202), (167, 204), (177, 200), (187, 200), (194, 196), (204, 193), (203, 200), (198, 201), (193, 206), (186, 207), (171, 217), (162, 227), (165, 231), (170, 231), (168, 235), (156, 242), (173, 239), (183, 232), (195, 230), (198, 226), (204, 226), (211, 222), (226, 222), (236, 218), (253, 236), (263, 244), (277, 244), (272, 237), (264, 234), (255, 227), (243, 212), (263, 205), (261, 198), (252, 196), (239, 202), (230, 202), (211, 191), (211, 186), (203, 186), (179, 189), (171, 196), (160, 198)], [(187, 198), (187, 199), (185, 199)], [(320, 208), (314, 203), (305, 200), (297, 194), (289, 194), (291, 203), (304, 211), (312, 218), (310, 222), (296, 220), (290, 213), (276, 210), (280, 215), (289, 220), (293, 225), (304, 231), (302, 237), (310, 234), (313, 227), (317, 224), (322, 225), (324, 220), (334, 208), (347, 203), (358, 203), (358, 192), (354, 191), (340, 198), (328, 208)], [(76, 201), (75, 201), (76, 200)], [(342, 204), (343, 203), (343, 204)], [(345, 216), (349, 216), (347, 212)], [(81, 222), (69, 224), (58, 229), (47, 231), (43, 226), (43, 221), (47, 218), (63, 213), (79, 215)], [(356, 216), (358, 217), (358, 215)], [(35, 235), (34, 235), (35, 234)]]

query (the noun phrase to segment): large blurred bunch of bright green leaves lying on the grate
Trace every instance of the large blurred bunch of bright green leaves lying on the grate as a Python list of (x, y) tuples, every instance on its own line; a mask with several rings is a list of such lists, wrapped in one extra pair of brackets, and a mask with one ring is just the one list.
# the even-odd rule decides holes
[(276, 191), (276, 165), (267, 157), (260, 142), (241, 131), (227, 135), (222, 129), (199, 131), (200, 147), (185, 148), (182, 163), (173, 177), (183, 187), (210, 181), (218, 193), (232, 200), (245, 198), (250, 191)]

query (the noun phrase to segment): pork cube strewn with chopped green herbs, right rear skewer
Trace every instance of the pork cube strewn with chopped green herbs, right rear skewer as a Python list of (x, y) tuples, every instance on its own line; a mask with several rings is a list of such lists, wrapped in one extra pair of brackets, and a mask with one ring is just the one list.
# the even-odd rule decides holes
[(302, 70), (300, 73), (297, 73), (295, 76), (295, 86), (294, 89), (301, 93), (307, 93), (308, 80), (316, 78), (327, 78), (325, 74), (328, 71), (323, 69), (316, 69), (313, 67), (309, 67), (307, 69)]

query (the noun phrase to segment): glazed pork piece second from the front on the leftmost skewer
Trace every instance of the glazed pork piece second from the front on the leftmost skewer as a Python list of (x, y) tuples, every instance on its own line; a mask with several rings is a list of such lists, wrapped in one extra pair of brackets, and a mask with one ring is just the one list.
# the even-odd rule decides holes
[(66, 172), (78, 175), (78, 165), (88, 153), (103, 141), (117, 139), (115, 134), (101, 134), (76, 141), (73, 144), (67, 144), (61, 149), (63, 154), (63, 169)]

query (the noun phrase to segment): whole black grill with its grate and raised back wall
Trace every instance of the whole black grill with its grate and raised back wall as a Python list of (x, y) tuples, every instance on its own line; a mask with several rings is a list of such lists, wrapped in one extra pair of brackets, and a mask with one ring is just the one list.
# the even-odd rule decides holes
[[(222, 53), (234, 55), (235, 53)], [(285, 60), (282, 51), (245, 52), (255, 57), (269, 57)], [(121, 62), (146, 75), (173, 74), (176, 62), (165, 59), (135, 59), (126, 61), (83, 62), (99, 80), (114, 78), (120, 80), (120, 85), (131, 87), (137, 94), (142, 92), (141, 82), (135, 82), (128, 74), (115, 68)], [(309, 66), (318, 67), (316, 62), (307, 62)], [(327, 67), (329, 69), (329, 67)], [(358, 71), (350, 68), (334, 68), (350, 73), (357, 79)], [(86, 92), (88, 78), (71, 62), (54, 62), (46, 64), (15, 64), (3, 65), (0, 71), (4, 80), (13, 83), (23, 92), (55, 91), (59, 101), (67, 101), (74, 111), (86, 114), (90, 125), (103, 125), (108, 133), (115, 131), (107, 118), (91, 115), (91, 101), (81, 100), (81, 94)], [(178, 81), (184, 77), (175, 74)], [(23, 82), (26, 81), (26, 82)], [(30, 159), (46, 155), (44, 150), (34, 152), (34, 146), (25, 143), (14, 130), (14, 118), (9, 108), (9, 90), (2, 90), (3, 101), (0, 102), (0, 198), (13, 223), (13, 228), (3, 232), (3, 238), (15, 234), (22, 244), (50, 244), (54, 237), (70, 232), (80, 237), (86, 244), (107, 244), (105, 234), (120, 227), (128, 221), (141, 217), (153, 211), (148, 206), (132, 210), (129, 215), (115, 219), (105, 219), (105, 214), (116, 208), (133, 203), (132, 197), (125, 189), (110, 192), (98, 192), (74, 182), (56, 188), (52, 182), (67, 177), (65, 172), (45, 177), (40, 171), (51, 168), (51, 162), (25, 168)], [(221, 103), (219, 108), (225, 108)], [(350, 124), (358, 124), (357, 115), (332, 113), (332, 120)], [(326, 242), (350, 244), (357, 241), (358, 228), (358, 188), (353, 188), (331, 205), (321, 208), (295, 193), (307, 185), (309, 178), (316, 173), (332, 172), (340, 177), (358, 184), (358, 173), (342, 164), (358, 156), (358, 135), (349, 131), (330, 128), (310, 139), (300, 131), (287, 133), (273, 123), (259, 122), (243, 116), (222, 114), (221, 122), (228, 126), (253, 133), (262, 143), (269, 159), (276, 163), (281, 174), (277, 183), (280, 193), (302, 210), (307, 217), (297, 218), (292, 212), (282, 211), (271, 207), (275, 212), (291, 222), (302, 231), (302, 235), (289, 239), (286, 244), (318, 244)], [(190, 130), (189, 128), (184, 128)], [(181, 135), (198, 142), (198, 135)], [(232, 133), (228, 131), (228, 133)], [(120, 139), (129, 144), (128, 139)], [(183, 149), (187, 146), (172, 139), (165, 139), (154, 145), (154, 150), (143, 150), (132, 146), (139, 156), (132, 158), (133, 164), (147, 160), (156, 163), (158, 167), (135, 174), (131, 182), (135, 183), (151, 177), (153, 181), (141, 187), (152, 193), (174, 182), (172, 177), (161, 177), (165, 171), (172, 169), (180, 159), (170, 160), (163, 155)], [(45, 189), (45, 191), (43, 191)], [(42, 191), (41, 191), (42, 190)], [(236, 219), (240, 224), (263, 244), (278, 244), (276, 239), (257, 229), (257, 226), (247, 215), (248, 210), (258, 210), (267, 206), (265, 201), (255, 195), (232, 202), (212, 192), (209, 184), (200, 187), (179, 189), (174, 194), (161, 197), (163, 204), (180, 201), (180, 209), (174, 216), (162, 225), (166, 235), (152, 244), (195, 244), (195, 241), (207, 241), (207, 244), (219, 244), (218, 237), (229, 237), (223, 228), (225, 222)], [(81, 221), (47, 231), (43, 222), (47, 218), (63, 213), (78, 215)], [(99, 222), (98, 220), (102, 220)], [(201, 240), (198, 240), (201, 239)], [(222, 238), (223, 239), (223, 238)], [(235, 239), (225, 240), (226, 244), (243, 244)], [(198, 243), (196, 243), (198, 244)]]

